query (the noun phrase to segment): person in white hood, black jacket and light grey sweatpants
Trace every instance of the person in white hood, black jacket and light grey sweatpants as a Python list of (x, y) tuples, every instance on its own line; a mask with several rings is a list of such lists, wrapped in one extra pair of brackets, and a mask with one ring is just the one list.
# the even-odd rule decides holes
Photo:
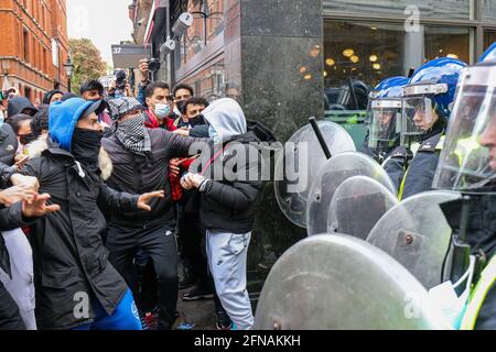
[[(202, 158), (192, 166), (192, 173), (183, 176), (182, 185), (185, 189), (200, 190), (200, 219), (206, 229), (208, 265), (217, 295), (236, 327), (248, 330), (254, 326), (254, 316), (246, 289), (246, 261), (262, 187), (258, 172), (261, 161), (250, 163), (248, 155), (258, 155), (259, 151), (250, 143), (260, 140), (254, 131), (248, 131), (241, 107), (233, 99), (215, 101), (203, 116), (216, 147), (209, 160)], [(233, 161), (240, 157), (234, 151), (241, 147), (247, 158)], [(229, 164), (238, 165), (237, 170), (229, 172)], [(230, 179), (216, 179), (215, 169), (229, 174)], [(250, 179), (254, 173), (257, 179)]]

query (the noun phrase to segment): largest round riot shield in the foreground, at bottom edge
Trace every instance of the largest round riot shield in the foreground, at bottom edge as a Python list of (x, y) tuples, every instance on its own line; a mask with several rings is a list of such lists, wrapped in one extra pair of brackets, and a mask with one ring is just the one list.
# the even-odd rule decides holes
[(258, 330), (449, 329), (427, 289), (397, 261), (347, 235), (296, 243), (272, 267)]

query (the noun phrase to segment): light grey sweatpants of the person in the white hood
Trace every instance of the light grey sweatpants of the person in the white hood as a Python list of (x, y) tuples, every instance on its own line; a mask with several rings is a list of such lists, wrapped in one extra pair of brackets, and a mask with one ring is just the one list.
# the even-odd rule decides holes
[(254, 327), (254, 314), (246, 289), (246, 262), (251, 232), (206, 232), (208, 266), (218, 298), (239, 330)]

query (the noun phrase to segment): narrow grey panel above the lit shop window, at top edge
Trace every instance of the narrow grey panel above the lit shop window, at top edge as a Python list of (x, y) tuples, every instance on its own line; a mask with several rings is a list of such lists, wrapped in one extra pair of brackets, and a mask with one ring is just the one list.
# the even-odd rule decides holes
[(471, 0), (324, 0), (324, 13), (341, 11), (403, 16), (407, 7), (416, 7), (421, 18), (471, 19)]

